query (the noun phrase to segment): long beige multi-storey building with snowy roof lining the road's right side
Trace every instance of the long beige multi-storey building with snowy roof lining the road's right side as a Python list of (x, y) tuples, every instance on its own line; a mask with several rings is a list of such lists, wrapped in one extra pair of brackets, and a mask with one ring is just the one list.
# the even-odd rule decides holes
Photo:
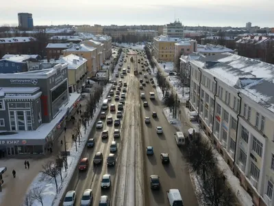
[(190, 61), (190, 110), (256, 206), (274, 205), (273, 71), (229, 53)]

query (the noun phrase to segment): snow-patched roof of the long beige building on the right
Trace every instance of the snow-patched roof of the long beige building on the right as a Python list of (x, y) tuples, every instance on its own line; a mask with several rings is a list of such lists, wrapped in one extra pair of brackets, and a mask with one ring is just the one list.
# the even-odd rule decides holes
[(190, 62), (274, 113), (274, 65), (223, 53)]

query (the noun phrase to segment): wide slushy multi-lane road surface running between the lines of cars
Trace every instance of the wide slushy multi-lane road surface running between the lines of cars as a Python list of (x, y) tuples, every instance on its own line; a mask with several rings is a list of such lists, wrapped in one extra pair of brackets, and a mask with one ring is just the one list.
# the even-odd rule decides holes
[[(136, 56), (137, 54), (135, 54)], [(138, 55), (138, 59), (144, 58)], [(127, 82), (127, 93), (121, 126), (114, 127), (107, 125), (103, 121), (103, 129), (93, 128), (90, 138), (95, 138), (94, 148), (85, 148), (82, 157), (87, 157), (90, 161), (88, 170), (79, 172), (76, 168), (68, 190), (75, 190), (77, 200), (75, 205), (80, 205), (81, 197), (86, 189), (92, 189), (93, 205), (98, 205), (102, 195), (110, 198), (110, 205), (169, 205), (166, 198), (166, 190), (171, 188), (179, 189), (184, 205), (198, 205), (195, 192), (188, 174), (188, 167), (184, 160), (182, 149), (175, 144), (175, 128), (169, 124), (162, 113), (162, 103), (157, 97), (156, 91), (151, 84), (147, 84), (144, 89), (139, 89), (139, 79), (145, 78), (142, 75), (134, 76), (134, 63), (130, 62), (130, 56), (125, 56), (127, 62), (123, 62), (122, 68), (131, 68), (130, 73), (125, 78), (117, 78)], [(134, 58), (135, 59), (135, 58)], [(144, 59), (145, 60), (145, 59)], [(141, 61), (142, 62), (142, 61)], [(142, 70), (138, 64), (138, 70)], [(144, 72), (143, 72), (144, 73)], [(151, 78), (149, 76), (149, 78)], [(155, 100), (149, 100), (149, 92), (156, 94)], [(140, 99), (140, 93), (145, 93), (145, 100)], [(149, 102), (149, 107), (143, 107), (143, 101)], [(112, 101), (116, 108), (119, 101)], [(117, 109), (116, 109), (117, 111)], [(106, 111), (106, 116), (116, 118), (116, 111)], [(158, 118), (151, 117), (152, 111), (158, 113)], [(145, 117), (150, 117), (151, 123), (145, 124)], [(156, 126), (162, 126), (164, 133), (157, 135)], [(116, 138), (118, 152), (116, 152), (116, 165), (108, 167), (106, 159), (110, 154), (110, 144), (114, 141), (114, 129), (121, 130), (121, 137)], [(108, 139), (101, 139), (102, 130), (108, 130)], [(148, 157), (145, 148), (153, 146), (154, 155)], [(96, 152), (103, 153), (103, 163), (92, 165)], [(162, 165), (160, 153), (168, 152), (171, 162), (169, 165)], [(110, 174), (112, 185), (110, 190), (101, 190), (101, 179), (103, 174)], [(149, 184), (149, 176), (157, 174), (160, 176), (161, 187), (158, 191), (152, 191)], [(62, 203), (60, 203), (62, 205)]]

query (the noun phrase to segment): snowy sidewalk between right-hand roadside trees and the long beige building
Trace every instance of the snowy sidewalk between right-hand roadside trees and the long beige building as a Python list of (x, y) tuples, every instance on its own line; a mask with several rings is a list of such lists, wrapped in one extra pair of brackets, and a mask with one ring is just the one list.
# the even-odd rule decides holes
[[(160, 71), (161, 73), (164, 73), (164, 69), (162, 67), (160, 67), (160, 65), (158, 64), (158, 62), (155, 60), (155, 58), (153, 57), (153, 60), (155, 62), (155, 65), (158, 69), (158, 71)], [(169, 79), (167, 78), (167, 82), (169, 82)], [(169, 82), (171, 88), (175, 88), (173, 87), (173, 85), (171, 84), (171, 82)], [(175, 89), (173, 89), (173, 92), (177, 92), (175, 91)], [(210, 141), (210, 139), (208, 139), (208, 136), (203, 132), (203, 130), (200, 128), (198, 123), (194, 123), (194, 122), (190, 122), (189, 118), (188, 118), (188, 108), (185, 107), (184, 103), (181, 103), (179, 106), (179, 110), (181, 111), (181, 114), (179, 115), (179, 121), (182, 124), (182, 128), (183, 128), (183, 132), (186, 133), (188, 128), (190, 128), (190, 126), (192, 126), (192, 128), (195, 128), (196, 130), (199, 130), (201, 132), (201, 135), (204, 139)], [(251, 196), (249, 196), (249, 194), (247, 193), (247, 191), (240, 185), (240, 181), (237, 179), (236, 176), (234, 176), (232, 170), (229, 168), (229, 165), (227, 165), (227, 163), (225, 162), (225, 160), (223, 159), (223, 157), (221, 157), (221, 155), (219, 154), (219, 152), (214, 149), (216, 152), (216, 157), (218, 159), (218, 163), (219, 163), (219, 168), (221, 170), (225, 171), (225, 176), (227, 179), (227, 183), (230, 185), (230, 187), (232, 188), (232, 191), (234, 192), (235, 196), (238, 198), (238, 201), (241, 205), (253, 205), (252, 202), (252, 198)]]

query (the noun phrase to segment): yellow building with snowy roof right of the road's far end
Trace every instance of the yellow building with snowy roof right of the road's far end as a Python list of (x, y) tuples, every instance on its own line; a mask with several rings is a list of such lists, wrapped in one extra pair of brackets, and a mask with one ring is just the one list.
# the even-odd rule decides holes
[(182, 41), (181, 38), (170, 38), (160, 35), (153, 38), (153, 54), (156, 60), (173, 62), (175, 43)]

